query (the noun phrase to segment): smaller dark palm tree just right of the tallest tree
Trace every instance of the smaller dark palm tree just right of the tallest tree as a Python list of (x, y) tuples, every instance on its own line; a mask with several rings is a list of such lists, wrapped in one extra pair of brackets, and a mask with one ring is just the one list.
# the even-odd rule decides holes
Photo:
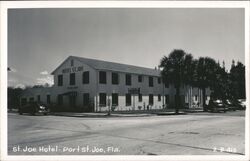
[(196, 64), (195, 84), (202, 90), (202, 104), (205, 110), (206, 88), (214, 85), (216, 81), (216, 61), (210, 57), (200, 57)]

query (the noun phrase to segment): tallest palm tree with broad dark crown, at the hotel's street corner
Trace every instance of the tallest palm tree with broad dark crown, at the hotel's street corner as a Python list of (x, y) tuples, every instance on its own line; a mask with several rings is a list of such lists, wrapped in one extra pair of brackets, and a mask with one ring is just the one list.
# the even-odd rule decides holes
[(191, 84), (193, 78), (193, 56), (183, 50), (173, 50), (169, 56), (164, 56), (159, 65), (164, 83), (173, 84), (176, 87), (175, 113), (179, 113), (180, 87), (183, 84)]

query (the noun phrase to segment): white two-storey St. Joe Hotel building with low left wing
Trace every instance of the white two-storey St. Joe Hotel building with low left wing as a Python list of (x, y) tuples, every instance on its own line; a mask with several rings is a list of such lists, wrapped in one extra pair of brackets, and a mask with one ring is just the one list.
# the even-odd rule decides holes
[[(174, 107), (175, 88), (164, 84), (158, 69), (69, 56), (53, 72), (54, 85), (26, 89), (21, 104), (40, 101), (82, 111), (151, 110)], [(182, 86), (186, 108), (203, 107), (198, 88)], [(210, 90), (206, 90), (206, 102)]]

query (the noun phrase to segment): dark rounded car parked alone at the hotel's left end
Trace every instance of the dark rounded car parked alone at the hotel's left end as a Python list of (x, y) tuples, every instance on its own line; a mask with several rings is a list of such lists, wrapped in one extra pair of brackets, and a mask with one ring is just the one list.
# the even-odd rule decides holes
[(36, 114), (47, 115), (50, 112), (50, 109), (42, 103), (30, 102), (26, 105), (19, 107), (18, 112), (20, 115), (22, 115), (23, 113), (29, 113), (31, 115), (36, 115)]

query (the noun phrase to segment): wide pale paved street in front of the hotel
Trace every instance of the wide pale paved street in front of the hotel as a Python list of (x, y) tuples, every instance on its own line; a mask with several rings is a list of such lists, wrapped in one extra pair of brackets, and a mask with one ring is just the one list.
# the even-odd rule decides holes
[(8, 152), (10, 155), (242, 155), (244, 121), (244, 111), (99, 118), (9, 113)]

